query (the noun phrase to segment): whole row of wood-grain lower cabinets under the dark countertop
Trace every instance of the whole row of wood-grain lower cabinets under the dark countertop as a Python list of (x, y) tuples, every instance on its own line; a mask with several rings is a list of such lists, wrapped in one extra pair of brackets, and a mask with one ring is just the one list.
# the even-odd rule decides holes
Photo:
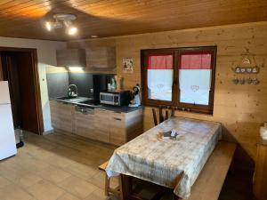
[(128, 113), (77, 108), (51, 100), (53, 128), (116, 146), (142, 134), (142, 108)]

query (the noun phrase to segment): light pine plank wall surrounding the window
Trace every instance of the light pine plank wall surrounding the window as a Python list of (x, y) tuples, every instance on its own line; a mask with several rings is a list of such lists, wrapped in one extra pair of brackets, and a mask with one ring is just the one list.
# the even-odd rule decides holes
[[(256, 22), (213, 28), (194, 28), (134, 36), (118, 36), (72, 41), (69, 47), (116, 46), (117, 74), (124, 78), (125, 89), (141, 83), (140, 51), (151, 48), (217, 45), (217, 64), (214, 92), (214, 115), (207, 116), (176, 112), (187, 116), (221, 122), (223, 133), (239, 142), (245, 153), (255, 159), (256, 138), (259, 127), (267, 120), (267, 22)], [(256, 54), (260, 66), (259, 85), (234, 85), (232, 67), (236, 67), (240, 54), (248, 48)], [(124, 57), (134, 58), (134, 73), (122, 70)], [(145, 108), (144, 128), (153, 126), (150, 108)]]

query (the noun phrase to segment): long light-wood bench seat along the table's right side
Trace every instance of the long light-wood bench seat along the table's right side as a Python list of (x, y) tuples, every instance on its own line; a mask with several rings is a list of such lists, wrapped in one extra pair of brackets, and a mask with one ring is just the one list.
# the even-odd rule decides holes
[(187, 200), (217, 200), (231, 167), (237, 145), (220, 141), (208, 158)]

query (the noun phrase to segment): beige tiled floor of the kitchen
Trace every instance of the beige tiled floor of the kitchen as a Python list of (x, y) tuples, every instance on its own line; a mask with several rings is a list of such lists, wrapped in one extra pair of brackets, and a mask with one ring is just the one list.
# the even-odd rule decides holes
[[(0, 161), (0, 200), (107, 200), (98, 165), (114, 149), (75, 135), (27, 133), (18, 155)], [(229, 174), (219, 199), (251, 199), (250, 180), (251, 174)], [(172, 191), (164, 199), (172, 199)]]

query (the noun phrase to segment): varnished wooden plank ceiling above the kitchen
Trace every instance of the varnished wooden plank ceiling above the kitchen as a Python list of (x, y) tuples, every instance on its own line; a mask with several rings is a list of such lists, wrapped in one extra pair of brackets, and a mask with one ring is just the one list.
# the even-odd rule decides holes
[[(0, 0), (0, 36), (67, 41), (267, 20), (266, 0)], [(77, 15), (77, 36), (47, 32), (54, 13)]]

